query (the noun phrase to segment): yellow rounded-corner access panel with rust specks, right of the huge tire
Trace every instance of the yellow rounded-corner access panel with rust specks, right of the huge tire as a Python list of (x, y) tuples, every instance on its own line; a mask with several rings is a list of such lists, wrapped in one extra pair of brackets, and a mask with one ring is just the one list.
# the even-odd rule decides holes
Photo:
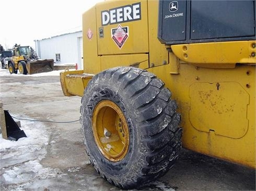
[[(206, 133), (214, 131), (216, 135), (230, 138), (246, 135), (247, 105), (250, 103), (249, 94), (242, 84), (196, 82), (189, 87), (189, 98), (189, 120), (196, 130)], [(209, 116), (211, 120), (208, 119)]]

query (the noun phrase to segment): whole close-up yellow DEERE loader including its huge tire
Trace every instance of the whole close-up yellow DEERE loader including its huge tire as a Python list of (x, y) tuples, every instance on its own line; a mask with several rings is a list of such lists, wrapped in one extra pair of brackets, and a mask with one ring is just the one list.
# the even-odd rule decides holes
[(255, 168), (255, 1), (104, 1), (83, 15), (83, 45), (62, 90), (82, 97), (108, 182), (143, 186), (181, 146)]

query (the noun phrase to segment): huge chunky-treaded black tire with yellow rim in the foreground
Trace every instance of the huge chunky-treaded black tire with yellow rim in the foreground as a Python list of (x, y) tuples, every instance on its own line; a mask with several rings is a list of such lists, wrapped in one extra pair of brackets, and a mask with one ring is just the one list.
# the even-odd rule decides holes
[(176, 162), (182, 129), (176, 101), (152, 73), (133, 67), (103, 71), (82, 98), (82, 132), (96, 171), (124, 189), (141, 187)]

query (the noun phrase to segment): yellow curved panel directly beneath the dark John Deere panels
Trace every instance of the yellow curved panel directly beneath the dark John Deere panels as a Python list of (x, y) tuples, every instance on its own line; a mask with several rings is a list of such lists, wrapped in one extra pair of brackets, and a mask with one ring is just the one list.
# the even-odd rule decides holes
[(235, 68), (236, 63), (255, 64), (255, 41), (214, 42), (172, 45), (181, 60), (198, 67)]

